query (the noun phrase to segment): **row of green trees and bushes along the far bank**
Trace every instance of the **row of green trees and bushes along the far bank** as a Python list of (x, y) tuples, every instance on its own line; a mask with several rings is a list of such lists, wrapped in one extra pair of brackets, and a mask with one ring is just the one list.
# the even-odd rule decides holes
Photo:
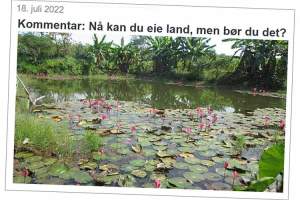
[(266, 89), (285, 86), (287, 42), (230, 41), (237, 50), (232, 56), (218, 55), (208, 38), (134, 36), (127, 44), (123, 38), (116, 44), (94, 34), (93, 44), (78, 44), (66, 33), (21, 33), (18, 71), (37, 75), (164, 76)]

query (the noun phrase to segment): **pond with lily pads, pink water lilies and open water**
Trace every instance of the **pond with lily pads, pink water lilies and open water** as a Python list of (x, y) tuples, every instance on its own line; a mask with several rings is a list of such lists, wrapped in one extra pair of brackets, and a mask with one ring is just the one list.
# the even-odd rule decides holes
[[(33, 110), (40, 120), (65, 124), (74, 140), (92, 131), (103, 145), (91, 156), (76, 145), (68, 164), (18, 152), (14, 182), (233, 190), (255, 180), (264, 148), (284, 141), (281, 98), (141, 80), (26, 83), (46, 96)], [(24, 179), (21, 166), (34, 179)]]

